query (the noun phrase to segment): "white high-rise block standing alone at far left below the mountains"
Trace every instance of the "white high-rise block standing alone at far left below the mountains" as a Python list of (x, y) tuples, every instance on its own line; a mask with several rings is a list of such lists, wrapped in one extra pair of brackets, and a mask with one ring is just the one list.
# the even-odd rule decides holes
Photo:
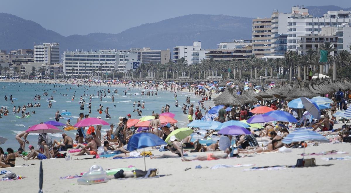
[(44, 43), (34, 45), (34, 62), (42, 62), (48, 64), (60, 63), (60, 47), (59, 43)]

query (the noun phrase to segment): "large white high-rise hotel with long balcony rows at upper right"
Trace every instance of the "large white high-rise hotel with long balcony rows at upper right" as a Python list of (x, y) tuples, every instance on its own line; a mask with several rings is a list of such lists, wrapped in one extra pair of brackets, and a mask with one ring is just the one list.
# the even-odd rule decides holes
[(313, 18), (308, 14), (308, 9), (294, 11), (299, 14), (292, 14), (287, 21), (287, 50), (291, 51), (298, 50), (297, 43), (301, 36), (320, 35), (323, 27), (338, 27), (351, 22), (351, 11), (328, 11), (322, 18)]

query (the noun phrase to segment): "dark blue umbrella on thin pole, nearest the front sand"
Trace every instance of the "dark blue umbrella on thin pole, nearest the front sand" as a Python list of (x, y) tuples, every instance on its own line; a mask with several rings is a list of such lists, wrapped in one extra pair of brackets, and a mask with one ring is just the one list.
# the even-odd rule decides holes
[[(134, 134), (129, 139), (127, 150), (134, 151), (136, 149), (144, 148), (144, 152), (145, 152), (145, 147), (153, 147), (153, 146), (159, 146), (159, 145), (167, 145), (167, 144), (155, 134), (137, 133), (137, 134)], [(145, 154), (144, 154), (144, 166), (146, 171)]]

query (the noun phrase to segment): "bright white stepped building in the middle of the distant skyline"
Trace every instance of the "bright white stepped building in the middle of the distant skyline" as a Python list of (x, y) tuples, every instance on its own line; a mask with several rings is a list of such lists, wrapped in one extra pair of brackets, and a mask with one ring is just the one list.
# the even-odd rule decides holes
[(187, 64), (198, 64), (206, 58), (208, 51), (201, 49), (201, 41), (194, 41), (193, 46), (176, 46), (173, 48), (173, 60), (177, 62), (180, 58), (185, 58)]

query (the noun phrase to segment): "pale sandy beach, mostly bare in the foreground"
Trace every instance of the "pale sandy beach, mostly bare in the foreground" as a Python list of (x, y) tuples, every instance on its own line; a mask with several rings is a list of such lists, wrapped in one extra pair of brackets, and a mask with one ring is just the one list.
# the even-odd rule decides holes
[[(4, 80), (1, 80), (4, 81)], [(5, 80), (10, 82), (13, 80)], [(16, 82), (16, 81), (14, 81)], [(21, 82), (39, 83), (39, 80), (22, 80)], [(43, 83), (64, 84), (47, 80)], [(112, 85), (114, 86), (114, 85)], [(124, 86), (124, 85), (116, 85)], [(183, 91), (187, 92), (187, 91)], [(193, 93), (192, 93), (193, 94)], [(213, 98), (216, 95), (212, 95)], [(213, 102), (206, 101), (205, 106), (214, 106)], [(337, 124), (334, 128), (341, 127)], [(335, 136), (333, 136), (335, 137)], [(6, 146), (6, 144), (5, 144)], [(44, 170), (44, 192), (349, 192), (349, 170), (351, 160), (330, 160), (322, 158), (350, 156), (349, 143), (319, 143), (318, 146), (308, 146), (305, 153), (319, 153), (326, 151), (343, 151), (347, 154), (309, 155), (307, 158), (316, 159), (316, 167), (284, 168), (263, 171), (244, 171), (252, 167), (265, 166), (294, 166), (297, 159), (302, 158), (303, 148), (292, 149), (290, 153), (269, 152), (249, 154), (241, 158), (219, 159), (211, 161), (181, 161), (180, 158), (150, 159), (146, 157), (146, 168), (159, 169), (159, 178), (149, 179), (111, 179), (107, 183), (94, 185), (79, 185), (77, 178), (60, 179), (68, 175), (80, 175), (92, 165), (100, 165), (104, 169), (125, 168), (135, 166), (144, 170), (144, 159), (112, 159), (92, 158), (92, 155), (72, 156), (72, 160), (62, 159), (42, 160)], [(163, 154), (158, 150), (146, 148), (154, 155)], [(188, 156), (204, 155), (208, 152), (188, 153)], [(243, 156), (244, 154), (240, 154)], [(79, 160), (77, 160), (79, 159)], [(32, 165), (34, 164), (34, 165)], [(216, 165), (232, 165), (234, 167), (211, 169)], [(238, 165), (253, 164), (253, 166)], [(39, 189), (39, 160), (25, 161), (16, 159), (16, 167), (1, 168), (9, 170), (16, 175), (25, 177), (15, 181), (1, 181), (1, 192), (25, 190), (37, 192)], [(28, 166), (22, 166), (28, 165)], [(201, 165), (201, 169), (195, 169)], [(208, 168), (206, 168), (208, 167)], [(185, 171), (185, 169), (191, 168)], [(164, 176), (163, 176), (164, 175)], [(1, 177), (1, 176), (0, 176)]]

